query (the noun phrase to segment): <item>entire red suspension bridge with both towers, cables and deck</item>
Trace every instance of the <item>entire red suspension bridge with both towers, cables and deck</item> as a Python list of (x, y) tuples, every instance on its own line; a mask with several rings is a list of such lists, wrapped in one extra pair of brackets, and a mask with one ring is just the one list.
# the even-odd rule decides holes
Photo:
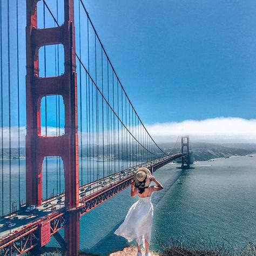
[(190, 140), (181, 137), (176, 152), (153, 140), (83, 0), (26, 0), (24, 6), (21, 28), (21, 2), (0, 0), (0, 255), (37, 254), (51, 236), (66, 255), (78, 255), (80, 217), (129, 187), (138, 167), (153, 173), (181, 158), (181, 168), (190, 168)]

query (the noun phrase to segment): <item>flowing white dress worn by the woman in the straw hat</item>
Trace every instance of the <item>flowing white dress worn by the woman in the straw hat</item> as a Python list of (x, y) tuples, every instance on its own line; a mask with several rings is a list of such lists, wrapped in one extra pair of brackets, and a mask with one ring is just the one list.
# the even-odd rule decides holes
[(151, 196), (139, 197), (139, 200), (127, 212), (123, 224), (114, 231), (114, 234), (126, 238), (129, 242), (136, 239), (138, 245), (143, 245), (145, 248), (145, 239), (150, 242), (152, 222)]

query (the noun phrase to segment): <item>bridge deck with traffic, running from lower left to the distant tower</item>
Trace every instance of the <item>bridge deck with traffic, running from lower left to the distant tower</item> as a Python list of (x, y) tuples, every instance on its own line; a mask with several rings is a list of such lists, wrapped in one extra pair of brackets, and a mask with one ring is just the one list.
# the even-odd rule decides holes
[[(130, 169), (126, 169), (124, 171), (111, 174), (110, 176), (80, 186), (78, 207), (80, 215), (84, 215), (85, 213), (89, 212), (99, 204), (103, 203), (103, 201), (113, 197), (115, 194), (130, 186), (131, 178), (133, 177), (134, 172), (139, 167), (147, 167), (153, 173), (153, 171), (156, 171), (161, 166), (170, 163), (170, 161), (173, 161), (185, 155), (186, 153), (176, 153), (172, 154), (171, 156), (161, 157), (156, 160), (152, 160), (137, 166), (133, 166)], [(123, 187), (119, 187), (116, 190), (116, 192), (113, 191), (114, 188), (117, 188), (122, 184), (125, 185)], [(106, 194), (106, 192), (111, 190), (113, 191), (113, 193), (107, 194), (107, 196), (98, 200), (100, 195), (103, 195), (104, 193)], [(35, 210), (31, 212), (26, 212), (26, 206), (24, 205), (18, 212), (6, 215), (5, 217), (1, 218), (0, 250), (4, 248), (6, 245), (10, 245), (16, 239), (20, 239), (21, 236), (23, 234), (25, 235), (28, 231), (37, 228), (37, 226), (40, 225), (40, 223), (42, 223), (45, 220), (50, 219), (50, 221), (52, 221), (55, 218), (58, 220), (58, 223), (55, 223), (56, 226), (54, 226), (53, 224), (53, 226), (51, 227), (51, 234), (54, 234), (55, 232), (60, 230), (60, 228), (62, 228), (65, 225), (65, 221), (62, 220), (59, 222), (59, 218), (64, 215), (64, 212), (66, 212), (64, 202), (65, 193), (58, 194), (53, 198), (44, 200), (42, 205), (36, 206)], [(16, 218), (17, 220), (11, 220), (14, 217), (18, 217), (18, 219)], [(8, 223), (14, 223), (15, 226), (8, 227), (8, 225), (6, 226), (6, 224)], [(23, 253), (24, 252), (25, 251), (23, 251)], [(2, 255), (1, 251), (0, 255)]]

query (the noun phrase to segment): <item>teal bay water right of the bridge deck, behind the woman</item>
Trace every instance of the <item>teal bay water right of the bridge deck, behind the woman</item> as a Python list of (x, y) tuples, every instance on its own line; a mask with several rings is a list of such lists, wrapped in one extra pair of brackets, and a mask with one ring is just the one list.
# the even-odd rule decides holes
[[(154, 218), (151, 250), (170, 238), (198, 235), (212, 242), (227, 241), (236, 250), (246, 239), (256, 241), (256, 156), (202, 161), (196, 169), (168, 164), (154, 172), (164, 189), (152, 194)], [(177, 178), (183, 181), (177, 184)], [(108, 255), (129, 245), (113, 232), (130, 206), (130, 188), (87, 213), (80, 221), (80, 246), (85, 252)], [(136, 242), (131, 242), (136, 245)]]

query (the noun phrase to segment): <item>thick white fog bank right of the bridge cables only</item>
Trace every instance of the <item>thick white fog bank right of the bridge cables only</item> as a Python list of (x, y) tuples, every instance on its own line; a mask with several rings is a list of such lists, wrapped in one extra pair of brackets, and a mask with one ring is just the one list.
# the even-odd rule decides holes
[(156, 123), (146, 128), (157, 143), (173, 142), (179, 135), (189, 135), (197, 142), (256, 143), (256, 119), (217, 117)]

